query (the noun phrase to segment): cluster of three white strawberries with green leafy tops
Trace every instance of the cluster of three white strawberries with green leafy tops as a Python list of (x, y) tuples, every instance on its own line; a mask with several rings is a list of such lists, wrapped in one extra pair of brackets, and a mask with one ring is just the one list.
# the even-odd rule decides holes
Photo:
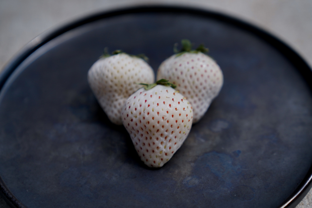
[(168, 162), (219, 94), (223, 74), (207, 51), (182, 40), (182, 49), (159, 66), (156, 83), (142, 58), (121, 51), (91, 66), (88, 82), (96, 99), (112, 123), (124, 125), (147, 166)]

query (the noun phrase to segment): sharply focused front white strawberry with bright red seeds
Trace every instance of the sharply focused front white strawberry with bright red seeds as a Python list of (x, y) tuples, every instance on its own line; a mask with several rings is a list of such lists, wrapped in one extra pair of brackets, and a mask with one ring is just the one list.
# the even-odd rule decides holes
[[(166, 85), (167, 82), (156, 83)], [(162, 167), (187, 138), (193, 110), (188, 100), (170, 86), (145, 88), (127, 99), (122, 122), (141, 160), (149, 167)]]

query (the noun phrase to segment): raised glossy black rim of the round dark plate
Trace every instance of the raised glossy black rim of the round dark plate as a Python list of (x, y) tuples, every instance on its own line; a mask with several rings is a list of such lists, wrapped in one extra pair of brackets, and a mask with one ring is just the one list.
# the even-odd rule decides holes
[[(237, 17), (233, 17), (222, 12), (212, 11), (207, 8), (199, 8), (194, 6), (178, 6), (178, 5), (135, 5), (127, 7), (119, 7), (115, 9), (105, 10), (96, 12), (85, 17), (77, 18), (76, 20), (70, 21), (62, 26), (56, 27), (51, 31), (44, 32), (39, 36), (35, 37), (26, 46), (24, 46), (17, 55), (13, 56), (11, 60), (3, 67), (0, 74), (0, 91), (3, 86), (16, 70), (16, 68), (33, 52), (39, 49), (41, 46), (45, 45), (49, 41), (55, 39), (56, 37), (71, 31), (77, 27), (83, 26), (85, 24), (95, 22), (97, 20), (116, 17), (126, 14), (139, 14), (139, 13), (171, 13), (171, 14), (190, 14), (193, 16), (198, 16), (202, 18), (212, 18), (219, 21), (225, 22), (227, 24), (239, 27), (245, 31), (258, 36), (262, 40), (266, 41), (277, 49), (281, 54), (283, 54), (292, 64), (296, 63), (297, 70), (304, 77), (304, 79), (312, 80), (312, 70), (307, 62), (289, 45), (284, 41), (281, 41), (276, 36), (272, 35), (268, 31), (247, 22), (246, 20), (241, 20)], [(312, 89), (312, 82), (306, 82), (310, 89)], [(299, 204), (299, 202), (305, 197), (305, 195), (312, 188), (312, 164), (309, 171), (304, 177), (303, 181), (298, 185), (295, 191), (280, 205), (278, 208), (293, 208)], [(25, 206), (21, 201), (15, 197), (12, 192), (8, 189), (2, 177), (0, 176), (0, 196), (7, 202), (11, 207), (24, 208)]]

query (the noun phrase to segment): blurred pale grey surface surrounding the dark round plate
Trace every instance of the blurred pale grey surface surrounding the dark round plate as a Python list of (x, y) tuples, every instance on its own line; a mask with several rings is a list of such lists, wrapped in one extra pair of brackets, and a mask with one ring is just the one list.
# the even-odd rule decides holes
[[(76, 18), (135, 5), (207, 8), (280, 38), (312, 65), (312, 0), (0, 0), (0, 73), (28, 42)], [(0, 208), (7, 208), (0, 197)], [(312, 191), (297, 208), (312, 207)]]

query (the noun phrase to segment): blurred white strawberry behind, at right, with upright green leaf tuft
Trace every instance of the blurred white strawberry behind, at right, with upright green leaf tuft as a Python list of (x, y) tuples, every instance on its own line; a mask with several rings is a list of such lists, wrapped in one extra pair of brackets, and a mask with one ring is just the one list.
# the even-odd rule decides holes
[(159, 66), (157, 80), (166, 79), (177, 85), (193, 107), (193, 123), (206, 113), (212, 100), (223, 85), (223, 74), (219, 65), (205, 54), (203, 45), (192, 50), (191, 42), (182, 40), (182, 50), (169, 57)]

